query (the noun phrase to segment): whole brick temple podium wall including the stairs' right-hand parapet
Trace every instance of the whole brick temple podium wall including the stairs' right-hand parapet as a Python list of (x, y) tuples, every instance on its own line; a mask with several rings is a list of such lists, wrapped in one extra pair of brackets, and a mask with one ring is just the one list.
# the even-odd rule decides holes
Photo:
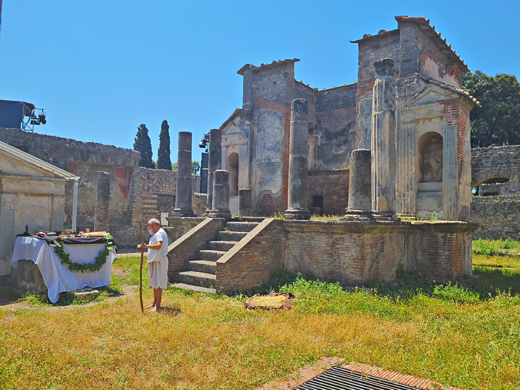
[(458, 280), (471, 275), (473, 229), (461, 222), (266, 219), (218, 259), (216, 290), (258, 287), (281, 268), (342, 285), (393, 280), (399, 265), (424, 279)]

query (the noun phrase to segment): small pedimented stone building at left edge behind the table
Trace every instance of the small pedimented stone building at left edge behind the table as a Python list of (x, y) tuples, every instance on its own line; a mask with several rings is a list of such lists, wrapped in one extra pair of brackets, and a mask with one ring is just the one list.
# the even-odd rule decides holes
[(11, 273), (15, 236), (63, 230), (65, 183), (74, 175), (0, 142), (0, 276)]

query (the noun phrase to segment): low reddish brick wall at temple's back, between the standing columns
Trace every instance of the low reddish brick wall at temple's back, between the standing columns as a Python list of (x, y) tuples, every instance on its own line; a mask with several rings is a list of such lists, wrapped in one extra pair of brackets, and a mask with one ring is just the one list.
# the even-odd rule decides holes
[(314, 196), (323, 197), (323, 214), (343, 215), (348, 206), (349, 170), (309, 172), (309, 207)]

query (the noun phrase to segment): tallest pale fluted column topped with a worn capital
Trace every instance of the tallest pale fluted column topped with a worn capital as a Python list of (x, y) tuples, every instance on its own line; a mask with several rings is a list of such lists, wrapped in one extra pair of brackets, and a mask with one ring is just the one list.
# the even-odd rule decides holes
[(395, 80), (394, 61), (374, 62), (375, 83), (372, 96), (372, 210), (376, 218), (390, 219), (395, 214)]

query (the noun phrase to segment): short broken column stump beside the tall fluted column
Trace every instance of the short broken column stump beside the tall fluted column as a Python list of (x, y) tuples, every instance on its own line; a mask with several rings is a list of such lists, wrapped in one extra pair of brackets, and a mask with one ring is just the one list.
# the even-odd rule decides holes
[(348, 207), (343, 220), (373, 220), (371, 194), (372, 156), (368, 149), (355, 149), (350, 154)]

